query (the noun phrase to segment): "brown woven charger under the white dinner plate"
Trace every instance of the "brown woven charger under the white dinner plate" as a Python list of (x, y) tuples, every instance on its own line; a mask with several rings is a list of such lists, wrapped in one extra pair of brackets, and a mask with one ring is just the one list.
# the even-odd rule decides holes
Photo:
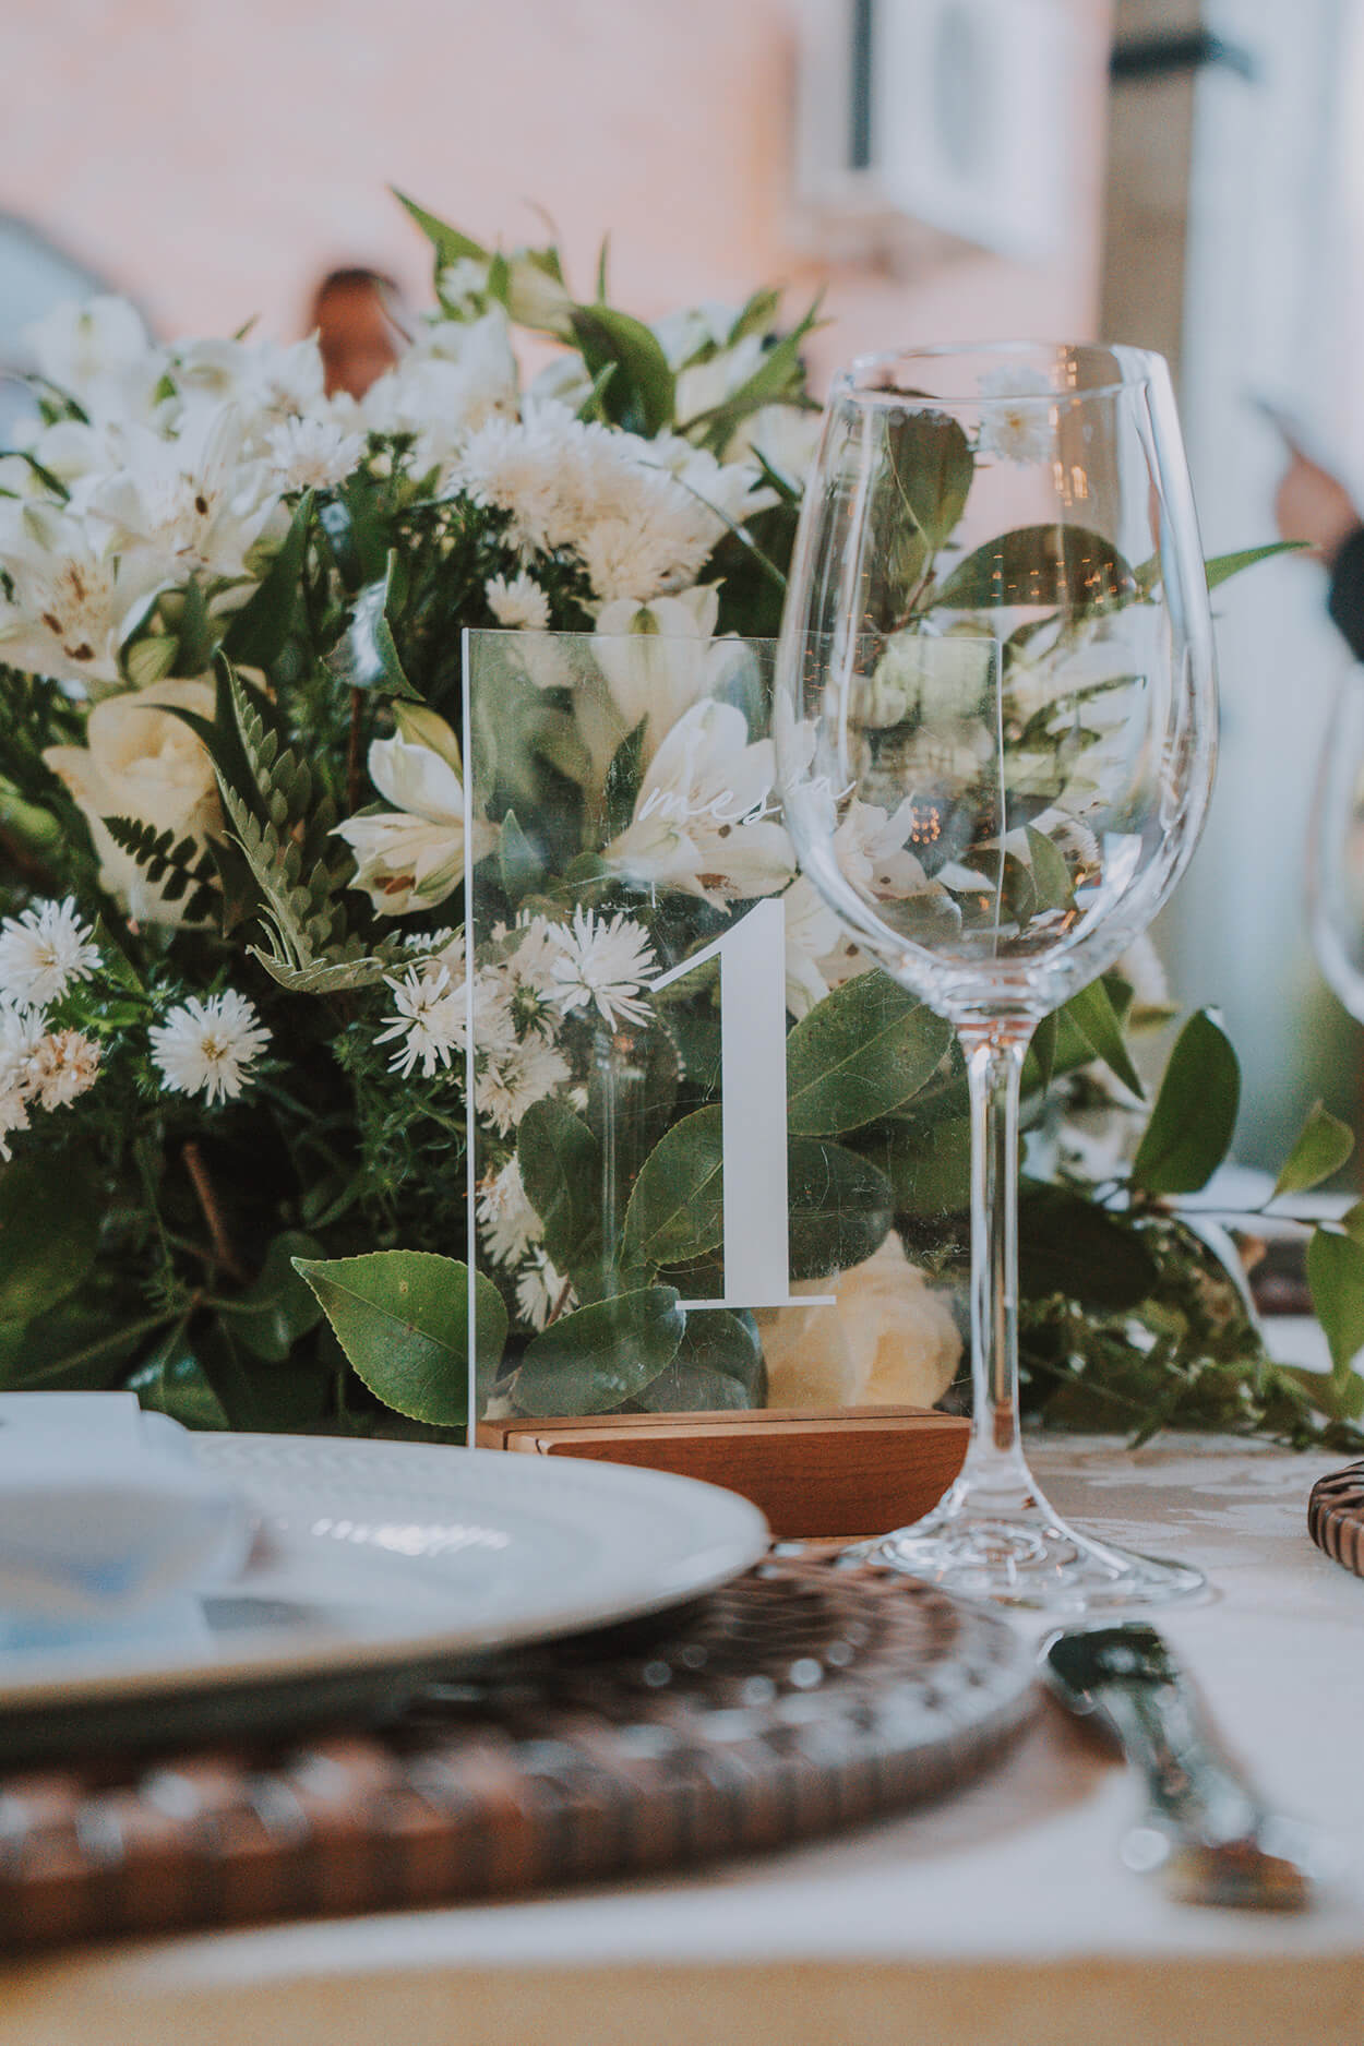
[(0, 1942), (530, 1893), (783, 1848), (967, 1784), (1033, 1717), (1008, 1625), (773, 1561), (384, 1725), (0, 1778)]

